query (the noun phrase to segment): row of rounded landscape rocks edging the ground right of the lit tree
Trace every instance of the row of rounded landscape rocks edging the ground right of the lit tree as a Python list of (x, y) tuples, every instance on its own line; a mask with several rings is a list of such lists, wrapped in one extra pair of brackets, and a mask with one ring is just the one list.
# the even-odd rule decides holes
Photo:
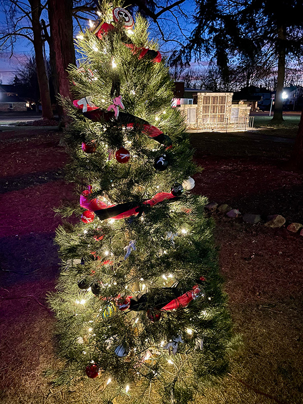
[[(263, 225), (271, 228), (280, 228), (285, 225), (286, 219), (281, 215), (269, 215), (266, 217), (266, 221), (262, 221), (261, 215), (245, 213), (244, 215), (238, 211), (238, 209), (232, 209), (228, 204), (217, 204), (215, 201), (210, 202), (205, 206), (205, 209), (214, 213), (215, 211), (225, 214), (230, 219), (236, 219), (242, 216), (244, 223), (249, 223), (251, 225)], [(286, 229), (291, 233), (298, 233), (303, 236), (303, 225), (301, 223), (291, 222), (288, 224)]]

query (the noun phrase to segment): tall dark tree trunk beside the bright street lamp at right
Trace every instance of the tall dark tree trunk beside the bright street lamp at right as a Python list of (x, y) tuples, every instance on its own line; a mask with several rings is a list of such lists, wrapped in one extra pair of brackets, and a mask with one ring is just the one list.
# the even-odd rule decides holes
[(278, 76), (274, 100), (274, 112), (272, 121), (276, 123), (283, 122), (283, 88), (285, 79), (285, 34), (284, 28), (280, 27), (278, 31)]

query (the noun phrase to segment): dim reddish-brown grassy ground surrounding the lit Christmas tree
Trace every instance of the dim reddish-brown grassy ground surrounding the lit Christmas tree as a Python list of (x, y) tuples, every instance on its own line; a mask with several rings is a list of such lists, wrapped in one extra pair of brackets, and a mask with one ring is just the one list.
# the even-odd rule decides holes
[[(60, 134), (48, 128), (0, 133), (0, 402), (98, 403), (100, 392), (52, 387), (44, 376), (58, 368), (55, 320), (44, 306), (58, 275), (53, 207), (76, 197), (63, 180), (67, 161)], [(291, 144), (244, 136), (193, 135), (204, 171), (195, 192), (242, 213), (279, 213), (302, 223), (302, 175), (283, 171)], [(218, 388), (199, 404), (299, 404), (303, 401), (303, 237), (216, 215), (215, 236), (234, 328), (243, 347)], [(41, 304), (40, 304), (41, 303)]]

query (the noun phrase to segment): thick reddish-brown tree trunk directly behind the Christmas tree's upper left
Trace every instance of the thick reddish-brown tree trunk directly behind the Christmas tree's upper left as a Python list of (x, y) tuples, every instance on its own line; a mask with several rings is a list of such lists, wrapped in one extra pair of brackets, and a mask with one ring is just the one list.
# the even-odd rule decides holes
[[(58, 91), (63, 97), (71, 98), (67, 76), (69, 64), (76, 65), (73, 37), (73, 1), (50, 0), (49, 19), (52, 52), (56, 61)], [(60, 111), (63, 114), (63, 111)]]

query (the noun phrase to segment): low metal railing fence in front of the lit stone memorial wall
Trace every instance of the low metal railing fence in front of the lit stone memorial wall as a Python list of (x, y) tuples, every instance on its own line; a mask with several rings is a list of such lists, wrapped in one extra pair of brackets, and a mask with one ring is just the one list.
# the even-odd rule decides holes
[(196, 130), (201, 131), (235, 131), (235, 130), (242, 130), (246, 131), (247, 129), (250, 129), (253, 127), (253, 121), (254, 117), (249, 116), (249, 117), (235, 117), (232, 119), (232, 121), (228, 118), (198, 118), (197, 123), (188, 123), (190, 126), (196, 126)]

